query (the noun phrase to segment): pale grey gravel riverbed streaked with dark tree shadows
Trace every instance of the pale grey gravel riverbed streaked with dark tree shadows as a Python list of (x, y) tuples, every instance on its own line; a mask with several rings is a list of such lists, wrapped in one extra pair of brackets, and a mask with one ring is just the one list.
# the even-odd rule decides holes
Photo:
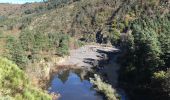
[(99, 65), (100, 61), (107, 61), (108, 52), (117, 52), (118, 49), (104, 45), (85, 45), (81, 48), (71, 50), (70, 56), (58, 63), (59, 66), (74, 66), (91, 69)]

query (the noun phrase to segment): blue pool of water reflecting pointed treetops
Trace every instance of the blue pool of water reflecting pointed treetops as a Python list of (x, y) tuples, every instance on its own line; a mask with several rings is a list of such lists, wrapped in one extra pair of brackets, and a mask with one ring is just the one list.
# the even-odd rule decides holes
[(89, 80), (74, 71), (64, 71), (56, 75), (49, 92), (60, 93), (60, 100), (104, 100), (103, 96), (92, 88)]

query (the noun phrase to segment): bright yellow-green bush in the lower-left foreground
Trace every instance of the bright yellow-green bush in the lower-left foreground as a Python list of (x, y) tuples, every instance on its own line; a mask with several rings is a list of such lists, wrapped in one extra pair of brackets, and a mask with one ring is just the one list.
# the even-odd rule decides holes
[(27, 76), (11, 61), (0, 58), (0, 100), (51, 100), (31, 86)]

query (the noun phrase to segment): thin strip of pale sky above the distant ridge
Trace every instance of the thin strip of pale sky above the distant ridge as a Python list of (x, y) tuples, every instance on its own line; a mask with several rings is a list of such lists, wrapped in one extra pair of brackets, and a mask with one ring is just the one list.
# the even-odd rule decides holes
[(0, 0), (0, 3), (14, 3), (14, 4), (23, 4), (27, 2), (40, 2), (43, 0)]

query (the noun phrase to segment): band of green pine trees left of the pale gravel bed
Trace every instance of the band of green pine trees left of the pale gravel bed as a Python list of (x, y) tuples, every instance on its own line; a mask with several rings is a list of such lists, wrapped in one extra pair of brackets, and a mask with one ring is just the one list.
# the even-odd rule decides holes
[(20, 66), (26, 65), (29, 61), (38, 61), (43, 53), (68, 55), (69, 39), (68, 35), (50, 33), (43, 34), (30, 30), (24, 30), (18, 39), (7, 37), (6, 57)]

